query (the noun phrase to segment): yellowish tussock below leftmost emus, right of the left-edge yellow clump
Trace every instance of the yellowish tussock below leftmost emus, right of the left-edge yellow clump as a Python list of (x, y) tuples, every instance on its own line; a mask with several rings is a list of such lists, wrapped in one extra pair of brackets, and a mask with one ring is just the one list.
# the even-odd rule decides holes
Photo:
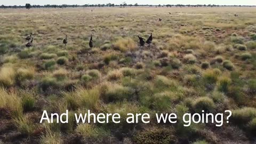
[(28, 68), (28, 69), (19, 68), (17, 70), (16, 79), (19, 82), (22, 82), (22, 81), (24, 81), (26, 79), (34, 78), (34, 75), (35, 75), (35, 69), (34, 68)]

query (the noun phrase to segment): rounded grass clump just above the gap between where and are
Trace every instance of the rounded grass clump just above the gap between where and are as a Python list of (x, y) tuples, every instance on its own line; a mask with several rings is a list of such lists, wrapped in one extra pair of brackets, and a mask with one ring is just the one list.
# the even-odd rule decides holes
[(108, 87), (106, 92), (106, 99), (109, 102), (123, 101), (124, 99), (129, 100), (133, 96), (133, 92), (129, 87), (122, 85), (112, 85)]

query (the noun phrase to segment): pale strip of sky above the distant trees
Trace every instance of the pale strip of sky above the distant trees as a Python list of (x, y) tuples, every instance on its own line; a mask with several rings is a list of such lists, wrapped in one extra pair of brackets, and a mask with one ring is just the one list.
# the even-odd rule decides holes
[(126, 2), (127, 4), (152, 4), (152, 5), (164, 5), (164, 4), (216, 4), (216, 5), (256, 5), (255, 0), (0, 0), (0, 5), (25, 5), (30, 3), (31, 5), (45, 5), (45, 4), (106, 4), (114, 3), (121, 4)]

